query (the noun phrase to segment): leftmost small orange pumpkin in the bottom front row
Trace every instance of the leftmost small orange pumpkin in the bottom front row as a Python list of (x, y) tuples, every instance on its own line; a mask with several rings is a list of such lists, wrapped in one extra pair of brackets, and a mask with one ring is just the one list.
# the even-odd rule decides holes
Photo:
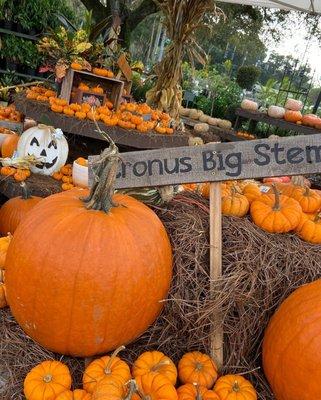
[(66, 365), (59, 361), (44, 361), (34, 367), (24, 381), (24, 394), (28, 400), (56, 400), (70, 390), (71, 375)]

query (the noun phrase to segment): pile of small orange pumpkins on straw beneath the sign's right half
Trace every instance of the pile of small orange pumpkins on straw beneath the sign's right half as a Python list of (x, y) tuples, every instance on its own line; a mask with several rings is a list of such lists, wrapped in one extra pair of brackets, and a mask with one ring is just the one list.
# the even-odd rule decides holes
[[(290, 183), (228, 181), (222, 183), (222, 213), (244, 217), (269, 233), (295, 232), (311, 244), (321, 244), (321, 196), (305, 180)], [(185, 185), (209, 198), (210, 185)]]

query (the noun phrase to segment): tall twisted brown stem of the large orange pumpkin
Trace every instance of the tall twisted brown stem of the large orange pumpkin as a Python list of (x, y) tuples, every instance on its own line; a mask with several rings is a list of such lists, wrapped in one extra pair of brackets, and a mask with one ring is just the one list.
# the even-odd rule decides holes
[(109, 142), (109, 147), (102, 152), (99, 159), (92, 165), (94, 183), (89, 196), (82, 200), (87, 209), (108, 213), (111, 208), (117, 207), (117, 204), (113, 202), (113, 195), (120, 157), (115, 142), (106, 132), (99, 128), (96, 120), (94, 122), (97, 132)]

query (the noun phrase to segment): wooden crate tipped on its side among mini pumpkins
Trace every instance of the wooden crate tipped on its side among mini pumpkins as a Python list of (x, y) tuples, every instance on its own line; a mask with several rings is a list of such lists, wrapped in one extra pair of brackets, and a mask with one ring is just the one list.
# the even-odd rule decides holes
[(60, 97), (70, 103), (72, 100), (72, 92), (77, 91), (80, 82), (84, 82), (89, 86), (100, 85), (104, 89), (107, 99), (114, 104), (115, 110), (118, 110), (124, 91), (123, 81), (115, 78), (97, 76), (91, 72), (69, 69), (62, 82)]

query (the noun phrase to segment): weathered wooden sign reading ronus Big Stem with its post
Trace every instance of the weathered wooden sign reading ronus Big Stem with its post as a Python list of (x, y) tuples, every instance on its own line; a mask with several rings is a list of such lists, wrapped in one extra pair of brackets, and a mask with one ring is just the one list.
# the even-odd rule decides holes
[[(222, 276), (222, 181), (304, 175), (321, 172), (321, 134), (215, 143), (195, 147), (124, 153), (116, 189), (211, 182), (210, 278), (211, 287)], [(97, 157), (89, 157), (89, 166)], [(89, 168), (89, 181), (92, 181)], [(223, 364), (222, 316), (213, 316), (211, 351)]]

